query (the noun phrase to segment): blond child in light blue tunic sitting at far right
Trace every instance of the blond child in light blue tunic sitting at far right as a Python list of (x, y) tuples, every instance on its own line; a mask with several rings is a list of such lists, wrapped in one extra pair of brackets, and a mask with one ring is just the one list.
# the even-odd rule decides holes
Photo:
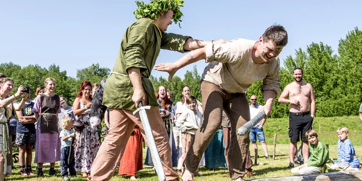
[(347, 169), (346, 170), (359, 170), (360, 160), (356, 156), (355, 148), (348, 136), (348, 129), (346, 127), (338, 128), (338, 162), (332, 165), (332, 168)]

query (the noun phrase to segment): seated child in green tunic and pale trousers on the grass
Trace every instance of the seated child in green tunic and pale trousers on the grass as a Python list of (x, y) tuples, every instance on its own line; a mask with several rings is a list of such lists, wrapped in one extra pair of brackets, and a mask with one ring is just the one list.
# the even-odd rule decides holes
[(329, 151), (327, 146), (318, 141), (318, 135), (314, 130), (308, 130), (305, 137), (309, 142), (310, 156), (306, 164), (291, 169), (291, 173), (300, 175), (319, 174), (322, 172), (322, 168), (324, 168), (324, 173), (328, 173), (326, 163), (329, 160)]

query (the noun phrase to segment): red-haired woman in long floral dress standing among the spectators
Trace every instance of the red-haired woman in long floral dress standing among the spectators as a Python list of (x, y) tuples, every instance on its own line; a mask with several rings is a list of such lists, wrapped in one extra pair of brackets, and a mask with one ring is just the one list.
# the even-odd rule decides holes
[(75, 169), (83, 172), (82, 177), (88, 177), (100, 143), (98, 128), (92, 128), (89, 123), (90, 106), (92, 101), (91, 84), (83, 81), (77, 98), (73, 102), (73, 113), (76, 116), (77, 132), (75, 146)]

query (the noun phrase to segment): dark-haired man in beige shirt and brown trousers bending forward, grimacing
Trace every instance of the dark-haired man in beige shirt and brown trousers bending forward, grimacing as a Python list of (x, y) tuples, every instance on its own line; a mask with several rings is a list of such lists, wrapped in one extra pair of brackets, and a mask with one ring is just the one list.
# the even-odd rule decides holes
[(207, 67), (202, 75), (201, 95), (204, 120), (196, 131), (184, 161), (182, 181), (192, 181), (193, 174), (207, 145), (221, 125), (224, 109), (231, 123), (228, 153), (230, 177), (243, 181), (249, 148), (249, 133), (237, 136), (236, 129), (250, 120), (249, 103), (245, 91), (253, 83), (263, 80), (261, 91), (266, 104), (261, 110), (271, 114), (275, 95), (280, 92), (279, 58), (288, 38), (284, 27), (269, 27), (258, 41), (234, 39), (225, 44), (209, 44), (188, 53), (175, 63), (156, 65), (155, 69), (170, 74), (169, 80), (182, 67), (205, 59)]

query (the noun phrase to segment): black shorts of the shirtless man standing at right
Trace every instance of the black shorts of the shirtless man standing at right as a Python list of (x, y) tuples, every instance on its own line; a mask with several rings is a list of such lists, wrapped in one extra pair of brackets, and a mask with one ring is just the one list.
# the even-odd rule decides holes
[[(300, 138), (302, 141), (308, 142), (305, 137), (305, 132), (312, 129), (313, 118), (307, 112), (290, 112), (289, 113), (289, 138), (291, 143), (298, 142)], [(300, 137), (299, 137), (300, 136)]]

